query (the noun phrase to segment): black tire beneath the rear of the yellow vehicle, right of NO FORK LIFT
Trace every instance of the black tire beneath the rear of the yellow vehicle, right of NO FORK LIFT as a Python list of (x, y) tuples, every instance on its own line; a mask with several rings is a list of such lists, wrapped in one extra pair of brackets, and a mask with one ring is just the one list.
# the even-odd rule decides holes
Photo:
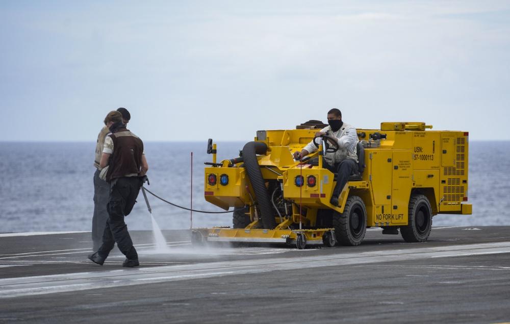
[(425, 242), (432, 229), (432, 208), (426, 196), (415, 194), (409, 200), (409, 222), (400, 227), (406, 242)]

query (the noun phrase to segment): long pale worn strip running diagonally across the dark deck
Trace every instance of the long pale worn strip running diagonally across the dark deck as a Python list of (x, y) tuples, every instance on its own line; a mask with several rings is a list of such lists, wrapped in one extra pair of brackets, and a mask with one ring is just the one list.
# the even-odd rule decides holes
[(431, 258), (451, 258), (474, 254), (510, 253), (510, 241), (450, 245), (437, 247), (408, 248), (403, 250), (373, 251), (358, 254), (340, 253), (334, 255), (287, 257), (272, 259), (252, 259), (221, 261), (210, 263), (169, 265), (159, 267), (134, 268), (114, 271), (64, 273), (60, 275), (0, 279), (0, 298), (79, 291), (96, 288), (122, 287), (211, 278), (231, 275), (246, 275), (279, 270), (299, 270), (342, 266), (423, 260)]

